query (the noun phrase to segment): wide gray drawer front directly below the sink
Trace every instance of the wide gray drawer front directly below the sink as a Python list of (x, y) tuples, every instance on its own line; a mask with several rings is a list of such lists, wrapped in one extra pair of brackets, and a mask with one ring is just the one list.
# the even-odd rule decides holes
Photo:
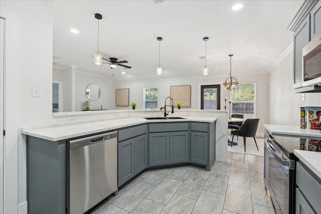
[(149, 123), (149, 132), (187, 131), (187, 130), (189, 130), (188, 122)]

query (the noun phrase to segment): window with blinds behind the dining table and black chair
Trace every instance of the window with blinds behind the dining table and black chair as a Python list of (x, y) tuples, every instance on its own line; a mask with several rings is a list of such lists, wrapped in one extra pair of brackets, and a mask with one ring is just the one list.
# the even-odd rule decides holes
[(255, 118), (255, 84), (238, 84), (230, 92), (231, 114), (242, 113), (244, 118)]

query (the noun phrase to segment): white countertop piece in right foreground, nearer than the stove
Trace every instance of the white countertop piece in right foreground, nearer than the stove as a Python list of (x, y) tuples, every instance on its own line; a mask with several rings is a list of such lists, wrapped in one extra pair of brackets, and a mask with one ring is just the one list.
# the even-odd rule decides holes
[(294, 149), (294, 155), (321, 178), (321, 152)]

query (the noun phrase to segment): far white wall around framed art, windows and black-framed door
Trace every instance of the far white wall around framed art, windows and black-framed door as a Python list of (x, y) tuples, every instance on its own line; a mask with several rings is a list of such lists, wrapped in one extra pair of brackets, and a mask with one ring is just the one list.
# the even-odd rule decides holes
[[(129, 88), (129, 103), (137, 103), (137, 109), (143, 108), (143, 88), (158, 88), (158, 107), (164, 106), (165, 98), (171, 94), (171, 85), (191, 85), (191, 109), (200, 109), (200, 85), (201, 84), (221, 84), (221, 109), (229, 109), (229, 91), (222, 85), (227, 76), (196, 76), (191, 78), (155, 79), (150, 81), (135, 81), (114, 83), (114, 89)], [(263, 136), (263, 123), (268, 123), (269, 115), (269, 74), (239, 75), (236, 76), (240, 83), (256, 83), (256, 118), (260, 118), (257, 136)], [(129, 109), (130, 106), (118, 107), (114, 109)], [(177, 108), (175, 108), (176, 110)]]

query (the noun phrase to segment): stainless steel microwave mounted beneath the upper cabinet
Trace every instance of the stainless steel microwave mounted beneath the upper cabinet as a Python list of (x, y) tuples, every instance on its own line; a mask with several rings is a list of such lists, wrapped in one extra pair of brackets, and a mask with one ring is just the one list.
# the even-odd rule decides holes
[(321, 85), (321, 32), (302, 48), (302, 86)]

